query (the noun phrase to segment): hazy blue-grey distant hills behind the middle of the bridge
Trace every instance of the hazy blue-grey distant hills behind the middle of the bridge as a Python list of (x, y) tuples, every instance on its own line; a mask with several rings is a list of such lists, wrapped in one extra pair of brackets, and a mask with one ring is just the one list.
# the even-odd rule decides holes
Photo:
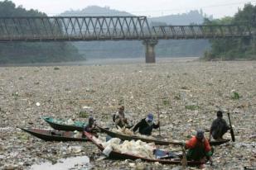
[[(131, 16), (128, 12), (120, 12), (109, 7), (90, 6), (82, 10), (70, 10), (60, 16)], [(179, 15), (147, 18), (150, 26), (158, 25), (189, 25), (204, 21), (202, 11), (191, 11)], [(89, 58), (137, 58), (144, 57), (142, 41), (91, 41), (74, 42), (80, 54)], [(208, 40), (159, 40), (156, 46), (157, 57), (202, 56), (209, 49)]]

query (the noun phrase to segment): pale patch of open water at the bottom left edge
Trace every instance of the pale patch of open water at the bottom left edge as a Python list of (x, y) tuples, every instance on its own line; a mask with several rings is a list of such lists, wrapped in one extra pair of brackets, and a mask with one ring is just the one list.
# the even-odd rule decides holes
[(89, 158), (87, 156), (61, 158), (56, 164), (41, 163), (31, 166), (32, 170), (67, 170), (67, 169), (84, 169), (89, 170)]

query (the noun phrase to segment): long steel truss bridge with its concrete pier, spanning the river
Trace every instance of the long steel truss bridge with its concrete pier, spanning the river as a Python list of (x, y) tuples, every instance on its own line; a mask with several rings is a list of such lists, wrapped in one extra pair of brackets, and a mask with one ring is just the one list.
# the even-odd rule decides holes
[(0, 17), (0, 42), (142, 40), (154, 63), (157, 40), (251, 37), (247, 25), (152, 26), (147, 17)]

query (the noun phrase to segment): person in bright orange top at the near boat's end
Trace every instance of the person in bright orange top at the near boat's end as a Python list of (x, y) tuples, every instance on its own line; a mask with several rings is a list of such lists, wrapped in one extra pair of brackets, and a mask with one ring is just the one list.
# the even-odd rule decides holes
[[(197, 130), (196, 136), (186, 141), (185, 149), (188, 149), (186, 158), (189, 161), (200, 161), (205, 163), (207, 160), (212, 164), (211, 156), (213, 149), (210, 148), (208, 139), (205, 138), (204, 130)], [(204, 165), (202, 165), (203, 168)]]

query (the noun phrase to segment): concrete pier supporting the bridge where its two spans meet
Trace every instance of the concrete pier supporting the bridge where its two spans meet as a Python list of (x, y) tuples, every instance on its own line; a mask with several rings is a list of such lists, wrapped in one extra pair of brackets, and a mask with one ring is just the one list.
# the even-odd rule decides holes
[(155, 45), (157, 45), (157, 42), (157, 40), (143, 40), (142, 42), (142, 44), (145, 45), (147, 64), (156, 63)]

